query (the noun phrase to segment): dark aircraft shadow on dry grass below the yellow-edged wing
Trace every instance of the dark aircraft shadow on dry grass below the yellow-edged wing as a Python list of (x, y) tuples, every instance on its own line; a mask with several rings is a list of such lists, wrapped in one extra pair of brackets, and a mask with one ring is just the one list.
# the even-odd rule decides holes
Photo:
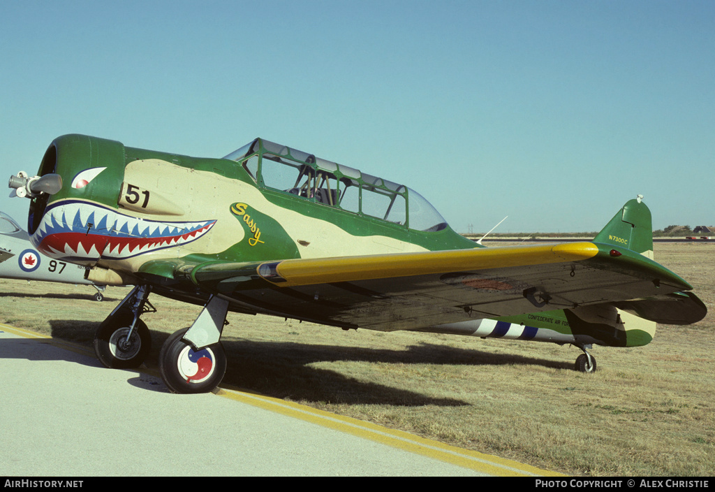
[[(276, 398), (291, 400), (325, 400), (331, 403), (388, 404), (396, 406), (460, 406), (469, 403), (454, 398), (433, 398), (416, 385), (405, 389), (356, 380), (327, 368), (315, 368), (315, 363), (354, 362), (395, 365), (543, 365), (569, 368), (569, 365), (518, 355), (498, 357), (478, 350), (450, 348), (421, 343), (408, 350), (345, 348), (334, 345), (275, 343), (224, 340), (232, 361), (224, 383), (250, 388)], [(479, 370), (479, 369), (475, 369)], [(395, 372), (395, 378), (399, 378)], [(405, 380), (406, 383), (406, 380)]]

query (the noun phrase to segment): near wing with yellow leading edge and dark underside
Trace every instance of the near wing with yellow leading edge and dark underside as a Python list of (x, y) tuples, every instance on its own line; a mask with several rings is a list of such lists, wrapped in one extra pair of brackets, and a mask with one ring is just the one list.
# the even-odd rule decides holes
[(638, 253), (593, 242), (270, 262), (152, 262), (141, 273), (221, 295), (237, 310), (385, 331), (691, 289)]

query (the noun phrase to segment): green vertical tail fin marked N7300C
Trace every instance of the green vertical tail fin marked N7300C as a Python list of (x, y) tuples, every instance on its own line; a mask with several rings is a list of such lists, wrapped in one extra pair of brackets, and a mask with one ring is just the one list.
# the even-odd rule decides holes
[(642, 201), (643, 195), (628, 200), (593, 242), (627, 247), (653, 259), (653, 223), (651, 211)]

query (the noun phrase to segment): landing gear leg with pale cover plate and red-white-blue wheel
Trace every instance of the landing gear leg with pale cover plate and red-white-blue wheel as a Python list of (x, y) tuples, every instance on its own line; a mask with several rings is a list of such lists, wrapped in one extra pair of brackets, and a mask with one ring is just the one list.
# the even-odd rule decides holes
[(212, 295), (191, 328), (179, 330), (164, 342), (159, 370), (174, 393), (207, 393), (226, 372), (226, 354), (220, 338), (228, 301)]

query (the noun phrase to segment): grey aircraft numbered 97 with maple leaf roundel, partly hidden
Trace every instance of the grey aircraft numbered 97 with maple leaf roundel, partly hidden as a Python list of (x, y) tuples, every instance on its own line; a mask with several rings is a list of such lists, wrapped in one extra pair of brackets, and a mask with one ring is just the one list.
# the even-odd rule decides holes
[(27, 232), (0, 212), (0, 278), (92, 285), (97, 289), (94, 300), (102, 300), (107, 286), (86, 280), (84, 270), (85, 267), (57, 261), (37, 251)]

